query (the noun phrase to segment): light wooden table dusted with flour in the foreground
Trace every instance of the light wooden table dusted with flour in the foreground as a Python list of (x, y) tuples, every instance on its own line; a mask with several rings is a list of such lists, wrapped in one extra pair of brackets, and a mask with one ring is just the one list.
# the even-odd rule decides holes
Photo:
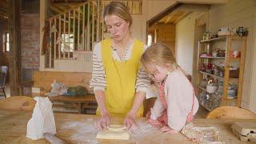
[[(0, 143), (49, 143), (46, 139), (38, 141), (26, 138), (26, 123), (31, 118), (31, 112), (25, 111), (6, 111), (0, 110)], [(153, 134), (149, 134), (146, 138), (137, 139), (135, 141), (117, 141), (117, 140), (99, 140), (95, 139), (96, 134), (93, 130), (95, 115), (86, 114), (54, 114), (58, 138), (68, 143), (195, 143), (189, 141), (182, 134), (162, 134), (155, 130)], [(138, 121), (145, 122), (145, 118), (138, 118)], [(242, 120), (242, 122), (256, 122), (255, 120)], [(73, 122), (73, 123), (72, 123)], [(91, 129), (83, 129), (82, 122), (90, 122)], [(122, 118), (114, 118), (114, 123), (122, 122)], [(218, 120), (218, 119), (194, 119), (196, 126), (217, 126), (221, 130), (221, 139), (226, 143), (242, 143), (236, 138), (230, 126), (233, 120)], [(76, 124), (77, 126), (72, 127)], [(88, 125), (88, 126), (89, 126)], [(87, 127), (88, 127), (87, 126)], [(91, 131), (90, 131), (91, 130)], [(82, 135), (79, 135), (82, 134)], [(94, 141), (89, 141), (94, 138)]]

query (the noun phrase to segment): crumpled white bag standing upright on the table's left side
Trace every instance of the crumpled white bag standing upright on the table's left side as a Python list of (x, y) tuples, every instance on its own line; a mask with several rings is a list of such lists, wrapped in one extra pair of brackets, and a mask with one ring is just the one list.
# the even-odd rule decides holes
[(35, 97), (37, 101), (34, 106), (32, 118), (27, 123), (26, 137), (33, 140), (43, 138), (44, 133), (56, 134), (52, 102), (49, 98)]

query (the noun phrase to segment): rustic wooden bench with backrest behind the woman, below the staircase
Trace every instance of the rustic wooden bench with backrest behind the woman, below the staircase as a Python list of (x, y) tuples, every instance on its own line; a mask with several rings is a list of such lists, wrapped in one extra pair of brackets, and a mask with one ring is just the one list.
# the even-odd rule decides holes
[(86, 114), (94, 114), (97, 102), (93, 90), (89, 87), (90, 78), (91, 73), (34, 71), (33, 87), (39, 88), (40, 93), (33, 93), (32, 96), (45, 96), (46, 92), (50, 92), (54, 80), (62, 82), (66, 86), (85, 86), (89, 93), (85, 96), (59, 95), (50, 97), (50, 101), (54, 104), (55, 112), (81, 114), (83, 110), (86, 110)]

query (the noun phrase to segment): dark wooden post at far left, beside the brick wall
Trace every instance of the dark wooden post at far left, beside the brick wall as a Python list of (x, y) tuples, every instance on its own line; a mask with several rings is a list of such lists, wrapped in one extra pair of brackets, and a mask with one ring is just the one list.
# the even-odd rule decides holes
[(22, 83), (21, 59), (21, 0), (9, 0), (10, 17), (10, 95), (18, 95), (17, 83)]

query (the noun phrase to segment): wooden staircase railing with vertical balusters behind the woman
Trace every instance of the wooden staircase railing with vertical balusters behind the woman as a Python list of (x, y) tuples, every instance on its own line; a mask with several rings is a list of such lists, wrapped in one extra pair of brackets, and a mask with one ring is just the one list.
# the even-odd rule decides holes
[[(110, 2), (86, 1), (46, 20), (42, 50), (45, 68), (54, 68), (54, 63), (60, 60), (74, 61), (80, 52), (91, 54), (94, 44), (106, 36), (102, 15)], [(130, 7), (131, 14), (142, 14), (142, 1), (122, 2)]]

